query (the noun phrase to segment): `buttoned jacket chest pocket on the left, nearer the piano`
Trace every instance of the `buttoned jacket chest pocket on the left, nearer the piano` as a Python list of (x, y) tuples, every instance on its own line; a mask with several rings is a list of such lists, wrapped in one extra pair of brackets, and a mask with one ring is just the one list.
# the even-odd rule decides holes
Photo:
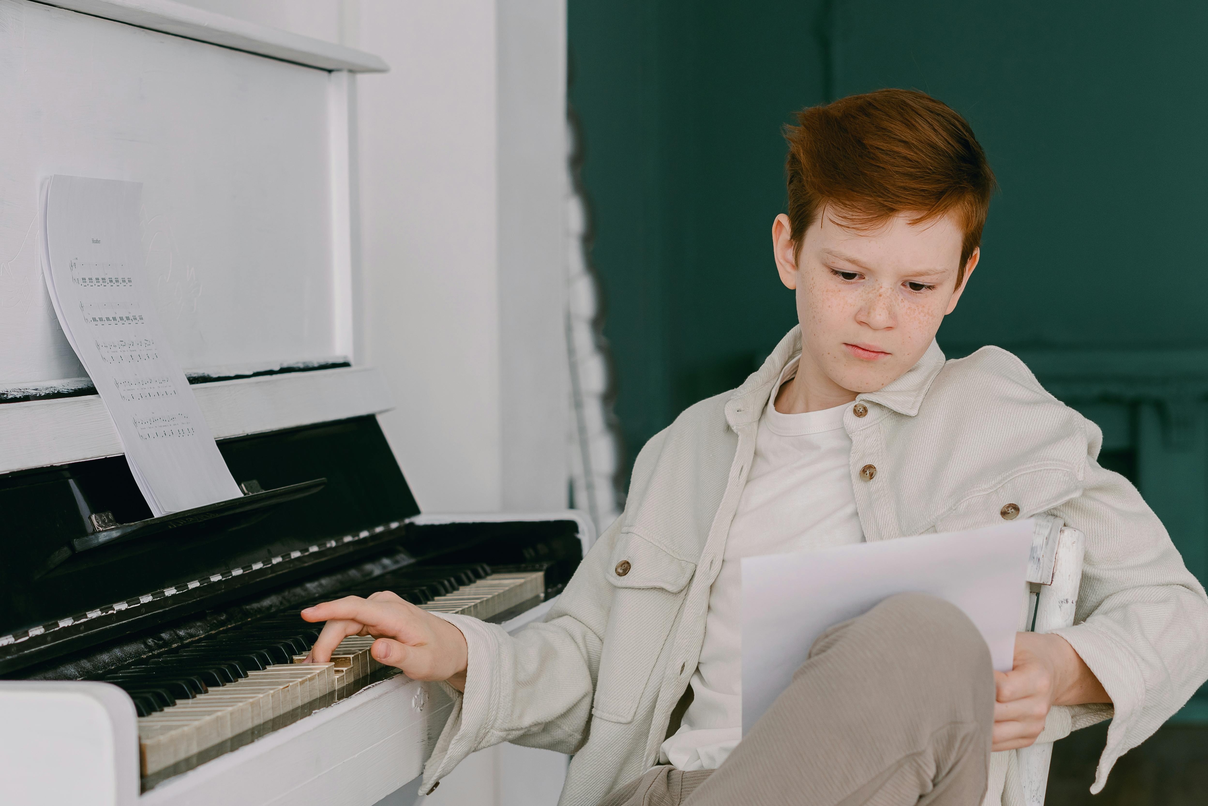
[(629, 532), (617, 539), (608, 568), (612, 607), (593, 713), (609, 721), (628, 723), (656, 671), (696, 564)]

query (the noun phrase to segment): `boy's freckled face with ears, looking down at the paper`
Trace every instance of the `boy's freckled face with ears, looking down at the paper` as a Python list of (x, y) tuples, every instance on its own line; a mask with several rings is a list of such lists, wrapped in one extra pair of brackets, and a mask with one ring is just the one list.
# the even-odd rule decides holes
[[(913, 225), (898, 214), (877, 230), (842, 226), (824, 209), (794, 260), (786, 215), (772, 228), (780, 280), (796, 290), (801, 381), (824, 396), (876, 392), (923, 356), (957, 307), (962, 232), (949, 218)], [(835, 388), (827, 388), (827, 387)]]

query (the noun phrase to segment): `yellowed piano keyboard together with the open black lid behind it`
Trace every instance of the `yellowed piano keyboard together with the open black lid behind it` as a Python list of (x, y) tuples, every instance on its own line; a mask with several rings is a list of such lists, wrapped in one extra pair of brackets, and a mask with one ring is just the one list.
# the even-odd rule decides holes
[[(318, 492), (243, 520), (185, 523), (62, 557), (97, 512), (145, 517), (121, 457), (0, 475), (25, 562), (0, 564), (0, 675), (99, 680), (138, 713), (143, 789), (397, 675), (345, 638), (307, 663), (321, 625), (300, 610), (389, 590), (503, 622), (557, 596), (583, 553), (574, 515), (437, 522), (418, 508), (373, 417), (222, 440), (240, 481)], [(255, 486), (250, 486), (255, 489)]]

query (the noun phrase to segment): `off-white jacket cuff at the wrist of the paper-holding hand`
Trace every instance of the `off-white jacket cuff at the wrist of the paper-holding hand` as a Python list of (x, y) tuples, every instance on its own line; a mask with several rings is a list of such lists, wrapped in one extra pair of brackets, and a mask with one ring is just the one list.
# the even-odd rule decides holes
[(1053, 630), (1052, 633), (1069, 642), (1111, 697), (1110, 706), (1075, 706), (1071, 713), (1071, 727), (1075, 730), (1111, 718), (1108, 741), (1091, 785), (1091, 794), (1098, 794), (1108, 782), (1108, 773), (1116, 759), (1131, 747), (1128, 733), (1142, 715), (1145, 704), (1142, 663), (1125, 642), (1116, 640), (1099, 625), (1080, 624)]

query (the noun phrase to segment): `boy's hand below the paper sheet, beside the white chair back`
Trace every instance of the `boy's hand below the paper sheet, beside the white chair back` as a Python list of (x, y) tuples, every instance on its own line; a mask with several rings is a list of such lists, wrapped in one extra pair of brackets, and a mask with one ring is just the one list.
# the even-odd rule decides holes
[(994, 672), (993, 750), (1028, 747), (1045, 729), (1053, 706), (1111, 702), (1099, 679), (1061, 636), (1015, 636), (1015, 668)]

